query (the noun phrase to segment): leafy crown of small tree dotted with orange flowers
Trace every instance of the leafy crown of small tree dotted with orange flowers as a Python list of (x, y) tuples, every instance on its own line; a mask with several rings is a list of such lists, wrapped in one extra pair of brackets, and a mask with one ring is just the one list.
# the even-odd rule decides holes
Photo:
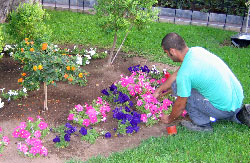
[(86, 83), (87, 72), (80, 69), (77, 57), (69, 55), (68, 49), (26, 38), (17, 45), (13, 57), (24, 64), (19, 84), (28, 90), (38, 89), (40, 82), (56, 85), (56, 81), (62, 80), (81, 86)]

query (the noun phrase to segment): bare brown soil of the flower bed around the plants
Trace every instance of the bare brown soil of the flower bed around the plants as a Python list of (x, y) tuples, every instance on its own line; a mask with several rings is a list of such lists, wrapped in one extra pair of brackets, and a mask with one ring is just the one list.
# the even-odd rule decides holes
[[(7, 102), (0, 110), (0, 127), (4, 130), (4, 135), (10, 138), (10, 144), (0, 158), (1, 163), (20, 162), (64, 162), (70, 158), (79, 158), (82, 161), (97, 156), (108, 156), (112, 152), (122, 151), (127, 148), (136, 147), (144, 139), (151, 136), (167, 136), (166, 125), (159, 123), (152, 127), (141, 125), (138, 133), (132, 136), (114, 137), (110, 139), (98, 138), (95, 144), (80, 141), (77, 136), (72, 137), (69, 147), (56, 148), (52, 139), (55, 134), (49, 134), (44, 142), (48, 148), (47, 157), (26, 158), (17, 152), (18, 140), (12, 137), (14, 128), (27, 117), (40, 115), (49, 124), (49, 127), (56, 127), (67, 122), (69, 110), (77, 104), (91, 103), (92, 100), (101, 96), (101, 90), (109, 87), (114, 81), (120, 79), (121, 74), (129, 75), (128, 67), (133, 65), (156, 65), (159, 69), (167, 68), (175, 70), (176, 67), (152, 63), (141, 57), (129, 58), (126, 54), (120, 55), (113, 64), (113, 68), (106, 68), (107, 59), (91, 60), (91, 63), (83, 68), (90, 72), (87, 77), (87, 86), (80, 87), (67, 83), (57, 83), (57, 87), (48, 86), (48, 111), (43, 111), (43, 85), (40, 90), (28, 92), (28, 97), (16, 101)], [(10, 89), (20, 89), (17, 80), (21, 76), (21, 65), (13, 61), (10, 57), (4, 57), (0, 61), (0, 88), (5, 88), (5, 92)], [(112, 112), (108, 115), (111, 117)], [(111, 131), (116, 127), (117, 122), (110, 118), (105, 123), (95, 126), (97, 130)]]

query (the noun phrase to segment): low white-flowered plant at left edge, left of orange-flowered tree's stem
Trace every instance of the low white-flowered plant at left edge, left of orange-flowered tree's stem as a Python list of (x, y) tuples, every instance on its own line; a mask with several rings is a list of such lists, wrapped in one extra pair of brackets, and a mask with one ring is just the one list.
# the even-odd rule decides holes
[(17, 89), (17, 90), (9, 90), (7, 93), (4, 93), (4, 89), (2, 88), (2, 94), (1, 96), (4, 99), (7, 99), (8, 101), (10, 100), (17, 100), (19, 98), (27, 97), (27, 89), (23, 87), (23, 89)]

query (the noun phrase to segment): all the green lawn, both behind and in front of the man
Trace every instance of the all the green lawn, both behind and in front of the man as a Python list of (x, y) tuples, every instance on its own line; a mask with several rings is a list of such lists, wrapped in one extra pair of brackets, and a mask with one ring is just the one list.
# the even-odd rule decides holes
[[(106, 34), (98, 27), (95, 15), (69, 11), (48, 11), (47, 23), (53, 30), (56, 44), (84, 44), (109, 48), (112, 33)], [(236, 32), (209, 27), (184, 26), (168, 23), (151, 23), (142, 31), (132, 29), (123, 51), (136, 53), (156, 62), (178, 65), (162, 52), (161, 39), (169, 32), (179, 33), (189, 47), (201, 46), (222, 58), (243, 85), (245, 103), (250, 103), (249, 47), (222, 46)], [(121, 32), (119, 35), (124, 36)], [(121, 43), (121, 37), (118, 44)], [(10, 40), (9, 40), (10, 42)], [(178, 127), (178, 134), (169, 137), (152, 137), (137, 148), (113, 153), (110, 157), (98, 156), (88, 162), (249, 162), (249, 128), (231, 122), (213, 125), (213, 133), (196, 133)], [(68, 162), (81, 162), (71, 159)]]

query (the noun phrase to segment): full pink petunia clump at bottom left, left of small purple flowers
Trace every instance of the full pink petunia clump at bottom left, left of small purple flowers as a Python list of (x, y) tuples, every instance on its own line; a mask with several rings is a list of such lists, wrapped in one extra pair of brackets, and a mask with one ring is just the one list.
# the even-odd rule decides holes
[(49, 133), (47, 123), (43, 118), (37, 116), (37, 121), (34, 122), (32, 117), (28, 117), (27, 122), (21, 122), (12, 133), (13, 137), (24, 140), (18, 143), (20, 153), (28, 157), (47, 156), (48, 150), (42, 145), (42, 139)]

